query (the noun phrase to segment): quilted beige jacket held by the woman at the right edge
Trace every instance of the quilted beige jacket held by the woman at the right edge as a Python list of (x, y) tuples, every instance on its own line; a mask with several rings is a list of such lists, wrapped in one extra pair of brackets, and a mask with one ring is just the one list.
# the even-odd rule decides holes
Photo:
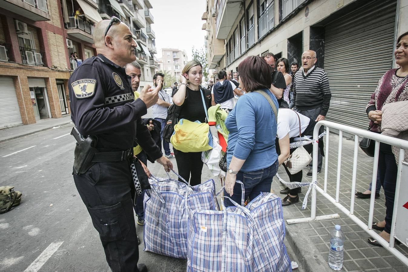
[[(408, 101), (387, 103), (382, 108), (381, 134), (408, 140)], [(395, 161), (398, 163), (399, 148), (392, 147)], [(408, 162), (408, 150), (405, 151), (405, 162)]]

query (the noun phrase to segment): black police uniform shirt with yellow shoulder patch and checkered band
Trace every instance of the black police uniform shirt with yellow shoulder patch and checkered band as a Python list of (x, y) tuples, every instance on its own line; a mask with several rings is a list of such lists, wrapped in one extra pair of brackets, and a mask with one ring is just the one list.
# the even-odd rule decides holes
[(83, 136), (98, 136), (97, 147), (126, 150), (137, 138), (153, 159), (162, 156), (141, 118), (146, 104), (134, 100), (124, 68), (99, 54), (75, 69), (68, 88), (72, 122)]

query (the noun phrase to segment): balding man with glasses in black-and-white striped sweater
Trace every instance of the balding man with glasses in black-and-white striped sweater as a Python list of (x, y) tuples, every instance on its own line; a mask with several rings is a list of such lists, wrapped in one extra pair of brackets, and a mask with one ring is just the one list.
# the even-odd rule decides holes
[[(331, 92), (326, 72), (316, 67), (316, 52), (307, 50), (302, 54), (302, 68), (295, 73), (293, 104), (295, 110), (316, 122), (324, 120), (330, 106)], [(323, 126), (319, 133), (323, 132)], [(323, 156), (318, 156), (317, 173), (322, 169)], [(312, 162), (308, 177), (312, 176)]]

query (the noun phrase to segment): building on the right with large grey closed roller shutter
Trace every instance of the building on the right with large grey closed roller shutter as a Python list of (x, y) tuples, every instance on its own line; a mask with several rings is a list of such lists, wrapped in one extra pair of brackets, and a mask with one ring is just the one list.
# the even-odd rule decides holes
[(206, 13), (214, 75), (236, 71), (249, 55), (270, 51), (300, 63), (304, 50), (315, 50), (332, 92), (327, 119), (363, 129), (365, 106), (408, 30), (407, 0), (207, 0)]

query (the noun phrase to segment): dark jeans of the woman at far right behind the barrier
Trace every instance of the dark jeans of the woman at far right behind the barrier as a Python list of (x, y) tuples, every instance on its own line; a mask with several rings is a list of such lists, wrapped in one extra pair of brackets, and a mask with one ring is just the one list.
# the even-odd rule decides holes
[(394, 210), (395, 187), (397, 185), (397, 162), (392, 153), (391, 145), (380, 143), (378, 156), (378, 173), (381, 185), (384, 188), (386, 202), (385, 232), (391, 233), (392, 213)]

